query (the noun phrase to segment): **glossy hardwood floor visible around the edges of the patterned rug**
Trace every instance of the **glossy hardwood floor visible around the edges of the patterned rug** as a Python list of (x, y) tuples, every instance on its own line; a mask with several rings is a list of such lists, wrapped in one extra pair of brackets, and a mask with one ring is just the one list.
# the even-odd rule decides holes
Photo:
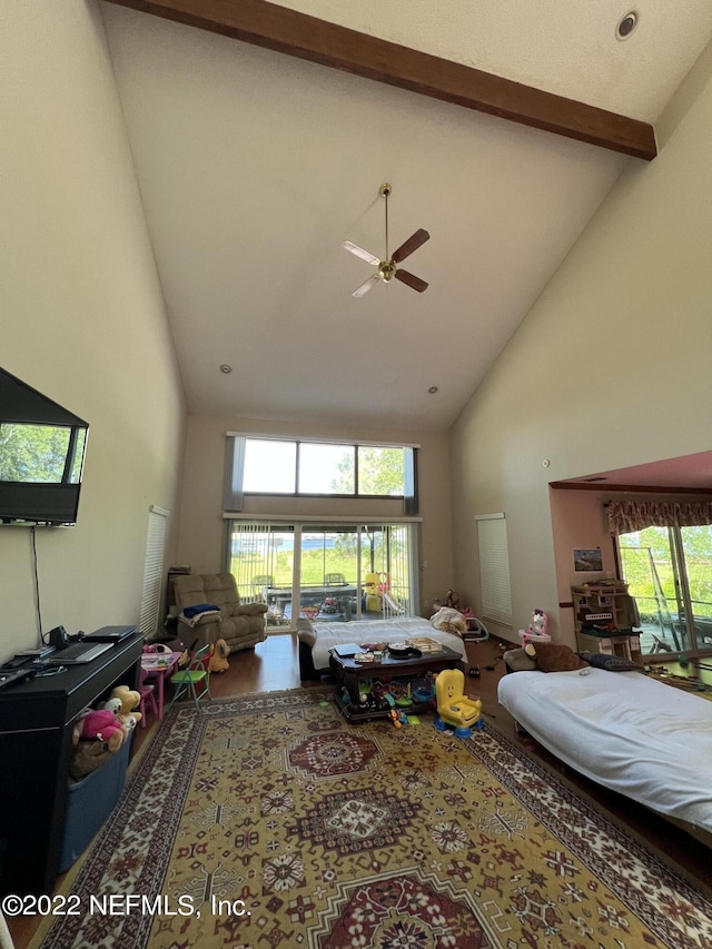
[[(575, 774), (553, 759), (534, 741), (517, 734), (514, 720), (497, 703), (497, 683), (504, 674), (502, 654), (511, 648), (512, 643), (495, 637), (467, 643), (469, 665), (479, 669), (478, 678), (467, 680), (467, 692), (482, 698), (485, 721), (554, 770), (562, 780), (570, 782), (582, 794), (596, 802), (614, 820), (622, 822), (627, 830), (665, 853), (686, 870), (693, 879), (712, 889), (712, 861), (708, 847), (668, 821), (655, 817), (645, 808), (635, 804), (635, 802), (621, 798), (619, 794), (600, 788), (587, 779)], [(671, 671), (684, 672), (680, 668)], [(324, 678), (320, 683), (305, 683), (301, 686), (296, 635), (277, 633), (268, 636), (264, 643), (259, 643), (254, 650), (246, 650), (231, 655), (230, 668), (224, 673), (216, 673), (211, 676), (210, 691), (218, 699), (285, 689), (308, 689), (328, 683), (329, 679)], [(146, 742), (151, 740), (158, 726), (159, 723), (155, 722), (149, 715), (147, 728), (136, 729), (134, 755), (140, 751)], [(353, 725), (353, 728), (358, 728), (358, 725)], [(58, 879), (58, 887), (61, 886), (62, 879), (61, 877)], [(9, 920), (9, 926), (16, 949), (27, 949), (37, 929), (37, 921), (31, 918), (17, 918)]]

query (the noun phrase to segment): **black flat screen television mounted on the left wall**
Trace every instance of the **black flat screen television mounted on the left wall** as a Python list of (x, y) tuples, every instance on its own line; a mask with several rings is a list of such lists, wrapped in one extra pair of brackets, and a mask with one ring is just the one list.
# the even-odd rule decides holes
[(89, 425), (0, 368), (0, 525), (73, 525)]

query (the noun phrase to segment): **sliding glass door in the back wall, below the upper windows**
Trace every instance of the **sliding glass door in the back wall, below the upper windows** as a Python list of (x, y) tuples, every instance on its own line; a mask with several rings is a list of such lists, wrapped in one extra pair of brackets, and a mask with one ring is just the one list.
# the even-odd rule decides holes
[(267, 603), (268, 630), (414, 615), (417, 525), (230, 521), (228, 571), (244, 600)]

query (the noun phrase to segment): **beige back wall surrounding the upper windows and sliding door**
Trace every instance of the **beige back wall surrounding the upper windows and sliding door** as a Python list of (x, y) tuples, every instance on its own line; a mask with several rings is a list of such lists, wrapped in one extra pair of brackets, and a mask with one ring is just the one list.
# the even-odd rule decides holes
[[(194, 415), (188, 422), (180, 533), (177, 557), (189, 563), (196, 573), (221, 569), (225, 550), (222, 513), (222, 474), (225, 436), (227, 432), (264, 435), (298, 435), (314, 438), (354, 438), (419, 444), (418, 469), (421, 490), (422, 548), (421, 560), (427, 567), (421, 572), (421, 607), (426, 611), (433, 600), (443, 596), (453, 584), (452, 530), (449, 486), (447, 480), (447, 436), (398, 432), (387, 428), (347, 429), (343, 426), (304, 425), (294, 423), (255, 422), (245, 418), (215, 418)], [(357, 505), (357, 506), (356, 506)], [(378, 508), (382, 510), (382, 508)], [(377, 510), (356, 501), (334, 502), (286, 498), (247, 498), (246, 513), (330, 514), (368, 517)], [(393, 502), (389, 513), (403, 514), (403, 505)], [(380, 515), (379, 515), (380, 516)]]

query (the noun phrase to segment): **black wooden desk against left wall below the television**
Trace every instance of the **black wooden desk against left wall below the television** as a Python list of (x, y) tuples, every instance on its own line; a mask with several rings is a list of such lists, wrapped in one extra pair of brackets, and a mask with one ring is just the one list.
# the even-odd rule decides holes
[(86, 665), (0, 690), (1, 896), (53, 891), (75, 720), (116, 685), (137, 688), (142, 645), (137, 633)]

